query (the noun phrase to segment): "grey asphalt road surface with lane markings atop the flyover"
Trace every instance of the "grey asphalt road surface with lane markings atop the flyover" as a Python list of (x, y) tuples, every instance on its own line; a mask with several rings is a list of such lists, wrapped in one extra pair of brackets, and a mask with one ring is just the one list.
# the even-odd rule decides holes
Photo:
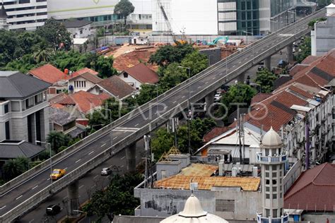
[[(320, 15), (317, 17), (319, 16)], [(286, 30), (279, 35), (271, 35), (269, 38), (261, 39), (256, 44), (253, 44), (252, 50), (245, 49), (244, 51), (238, 53), (237, 56), (233, 57), (233, 59), (228, 59), (227, 64), (223, 62), (218, 66), (209, 68), (207, 73), (203, 76), (196, 78), (196, 80), (192, 79), (189, 86), (175, 90), (171, 95), (163, 97), (163, 99), (160, 100), (160, 106), (152, 106), (151, 109), (143, 111), (141, 114), (137, 114), (136, 116), (132, 116), (131, 119), (128, 119), (122, 123), (121, 126), (112, 131), (113, 143), (116, 144), (122, 139), (127, 139), (131, 133), (139, 131), (143, 126), (151, 123), (151, 120), (160, 116), (160, 114), (164, 114), (167, 110), (176, 108), (180, 109), (178, 104), (187, 102), (190, 95), (194, 95), (201, 91), (207, 92), (209, 85), (216, 83), (218, 78), (228, 77), (229, 73), (233, 73), (240, 66), (249, 64), (250, 61), (254, 60), (254, 55), (261, 54), (271, 47), (276, 47), (278, 43), (287, 40), (295, 35), (295, 33), (305, 30), (307, 28), (308, 21), (300, 21), (305, 24), (294, 25), (293, 27), (286, 28)], [(93, 159), (96, 155), (107, 150), (110, 145), (111, 134), (106, 133), (104, 135), (100, 135), (100, 138), (97, 140), (81, 147), (80, 150), (77, 150), (69, 157), (59, 160), (56, 164), (54, 164), (53, 168), (66, 169), (68, 173), (74, 171), (74, 169), (80, 167)], [(9, 213), (14, 207), (17, 207), (20, 203), (23, 203), (28, 198), (49, 186), (49, 173), (50, 169), (46, 168), (33, 178), (27, 179), (19, 186), (12, 188), (11, 191), (1, 194), (0, 215), (2, 216)], [(13, 216), (13, 213), (10, 215)]]

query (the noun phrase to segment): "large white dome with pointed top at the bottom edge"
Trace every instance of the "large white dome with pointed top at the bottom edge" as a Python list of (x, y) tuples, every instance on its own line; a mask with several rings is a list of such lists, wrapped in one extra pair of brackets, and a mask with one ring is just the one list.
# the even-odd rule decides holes
[(184, 210), (177, 215), (172, 215), (160, 221), (160, 223), (228, 223), (225, 219), (205, 212), (200, 201), (193, 194), (187, 199)]

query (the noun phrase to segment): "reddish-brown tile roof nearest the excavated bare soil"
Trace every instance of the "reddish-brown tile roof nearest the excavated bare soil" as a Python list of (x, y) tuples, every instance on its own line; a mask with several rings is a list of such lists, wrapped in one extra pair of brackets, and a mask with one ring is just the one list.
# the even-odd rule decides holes
[(142, 63), (127, 68), (124, 72), (128, 73), (136, 80), (139, 80), (141, 83), (158, 83), (158, 74)]

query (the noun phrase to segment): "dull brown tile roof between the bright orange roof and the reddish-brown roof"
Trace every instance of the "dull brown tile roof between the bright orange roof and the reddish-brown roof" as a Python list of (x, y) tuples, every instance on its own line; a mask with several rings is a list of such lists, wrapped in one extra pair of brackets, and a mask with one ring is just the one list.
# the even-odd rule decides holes
[(131, 87), (131, 85), (127, 84), (124, 82), (124, 80), (116, 75), (102, 80), (100, 83), (98, 83), (98, 85), (107, 92), (110, 92), (110, 94), (114, 95), (114, 97), (119, 97), (119, 99), (127, 97), (136, 92), (135, 88)]

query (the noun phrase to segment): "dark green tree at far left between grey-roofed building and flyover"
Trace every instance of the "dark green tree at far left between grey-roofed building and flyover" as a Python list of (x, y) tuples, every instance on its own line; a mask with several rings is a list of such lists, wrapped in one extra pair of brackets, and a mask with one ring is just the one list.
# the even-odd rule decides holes
[(5, 179), (11, 180), (16, 176), (24, 173), (28, 170), (29, 159), (26, 157), (18, 157), (16, 159), (10, 159), (4, 164), (3, 171)]

